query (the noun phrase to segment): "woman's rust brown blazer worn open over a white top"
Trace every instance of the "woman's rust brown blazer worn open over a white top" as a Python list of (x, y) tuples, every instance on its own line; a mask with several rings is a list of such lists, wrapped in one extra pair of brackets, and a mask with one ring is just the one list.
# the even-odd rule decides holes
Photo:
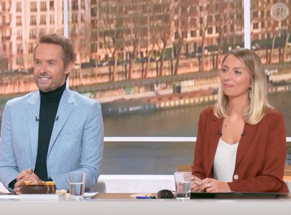
[[(199, 118), (192, 174), (213, 178), (212, 166), (220, 138), (223, 118), (213, 114), (213, 106), (205, 108)], [(228, 182), (236, 192), (288, 192), (283, 182), (286, 136), (281, 113), (269, 108), (256, 125), (244, 125), (239, 140), (233, 173)]]

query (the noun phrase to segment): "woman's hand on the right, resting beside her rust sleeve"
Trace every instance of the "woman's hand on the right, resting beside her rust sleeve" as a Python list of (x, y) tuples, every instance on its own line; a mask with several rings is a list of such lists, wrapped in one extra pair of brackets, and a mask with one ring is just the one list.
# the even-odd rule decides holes
[(228, 183), (213, 178), (201, 180), (200, 190), (205, 190), (206, 192), (231, 192)]

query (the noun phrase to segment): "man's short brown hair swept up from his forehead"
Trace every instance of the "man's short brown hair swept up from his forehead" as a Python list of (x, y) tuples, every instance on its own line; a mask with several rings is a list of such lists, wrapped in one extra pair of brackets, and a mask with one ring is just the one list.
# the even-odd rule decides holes
[[(48, 35), (42, 36), (40, 38), (39, 44), (34, 49), (34, 54), (33, 54), (33, 58), (34, 59), (35, 59), (36, 49), (38, 48), (38, 46), (40, 44), (54, 44), (54, 45), (61, 46), (62, 47), (62, 59), (63, 59), (63, 62), (64, 62), (64, 68), (66, 68), (66, 66), (70, 62), (74, 63), (75, 52), (74, 52), (74, 49), (73, 49), (73, 45), (72, 45), (71, 41), (68, 38), (66, 38), (66, 37), (64, 37), (62, 35), (58, 35), (58, 34), (48, 34)], [(66, 76), (66, 78), (68, 77), (68, 75)]]

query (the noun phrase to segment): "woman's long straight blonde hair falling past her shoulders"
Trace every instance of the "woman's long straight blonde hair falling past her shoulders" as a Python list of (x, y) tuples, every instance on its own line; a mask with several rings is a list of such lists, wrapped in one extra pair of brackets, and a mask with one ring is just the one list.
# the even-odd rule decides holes
[[(223, 65), (225, 59), (233, 55), (245, 66), (250, 74), (251, 79), (251, 98), (248, 105), (243, 111), (242, 118), (244, 122), (255, 125), (260, 122), (263, 116), (267, 113), (269, 107), (267, 97), (267, 84), (264, 68), (260, 58), (249, 49), (234, 49), (231, 50), (222, 60)], [(217, 118), (227, 118), (228, 97), (223, 93), (220, 86), (217, 96), (217, 104), (214, 106), (214, 115)]]

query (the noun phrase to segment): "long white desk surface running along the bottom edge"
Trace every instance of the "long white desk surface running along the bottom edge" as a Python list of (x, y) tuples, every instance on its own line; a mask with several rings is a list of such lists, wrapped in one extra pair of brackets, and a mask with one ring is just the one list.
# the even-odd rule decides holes
[(1, 214), (290, 214), (291, 199), (85, 199), (0, 200)]

